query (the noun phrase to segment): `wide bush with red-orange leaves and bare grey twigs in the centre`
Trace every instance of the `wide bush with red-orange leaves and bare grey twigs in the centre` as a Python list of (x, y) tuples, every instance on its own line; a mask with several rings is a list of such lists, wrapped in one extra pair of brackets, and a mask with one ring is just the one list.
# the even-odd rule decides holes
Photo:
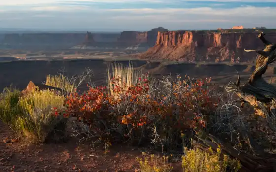
[(69, 95), (66, 104), (96, 136), (108, 133), (171, 146), (181, 144), (184, 131), (196, 133), (206, 127), (208, 115), (219, 103), (206, 86), (209, 81), (178, 77), (172, 82), (167, 77), (155, 82), (145, 74), (135, 85), (126, 86), (114, 77), (112, 95), (104, 86), (89, 87), (84, 94)]

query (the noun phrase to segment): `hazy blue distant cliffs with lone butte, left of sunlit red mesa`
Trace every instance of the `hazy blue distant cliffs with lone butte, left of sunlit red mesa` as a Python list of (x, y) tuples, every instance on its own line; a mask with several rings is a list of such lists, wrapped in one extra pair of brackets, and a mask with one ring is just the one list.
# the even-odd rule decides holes
[[(154, 46), (158, 31), (168, 31), (162, 27), (150, 31), (123, 31), (121, 33), (9, 33), (0, 35), (0, 46), (11, 49), (44, 48), (118, 48)], [(88, 35), (89, 34), (89, 35)], [(89, 37), (87, 37), (89, 36)]]

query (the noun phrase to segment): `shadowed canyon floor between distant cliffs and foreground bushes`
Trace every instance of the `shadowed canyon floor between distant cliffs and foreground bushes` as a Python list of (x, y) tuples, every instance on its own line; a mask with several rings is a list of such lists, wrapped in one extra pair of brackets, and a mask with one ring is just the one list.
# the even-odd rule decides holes
[[(108, 66), (114, 62), (129, 65), (130, 61), (135, 69), (150, 72), (155, 78), (177, 74), (190, 77), (211, 77), (212, 82), (226, 84), (236, 81), (237, 73), (241, 81), (245, 82), (254, 70), (252, 63), (184, 63), (166, 60), (134, 59), (130, 54), (138, 53), (136, 50), (59, 50), (59, 51), (24, 51), (0, 50), (0, 90), (13, 86), (24, 89), (31, 80), (35, 83), (45, 81), (46, 75), (64, 73), (67, 76), (79, 74), (86, 68), (92, 69), (92, 81), (97, 85), (106, 85)], [(27, 57), (18, 60), (14, 57)], [(236, 70), (235, 70), (236, 69)], [(276, 81), (276, 66), (271, 65), (264, 75), (272, 83)]]

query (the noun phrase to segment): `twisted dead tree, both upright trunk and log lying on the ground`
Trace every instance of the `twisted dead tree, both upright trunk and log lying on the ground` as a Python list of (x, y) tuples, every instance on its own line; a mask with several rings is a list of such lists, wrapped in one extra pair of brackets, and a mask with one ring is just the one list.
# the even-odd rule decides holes
[[(264, 50), (244, 50), (246, 52), (256, 52), (260, 54), (256, 60), (256, 69), (250, 76), (249, 81), (241, 85), (240, 75), (237, 71), (238, 80), (235, 83), (236, 88), (231, 87), (231, 90), (235, 91), (243, 103), (247, 102), (252, 105), (255, 108), (255, 114), (266, 118), (269, 127), (273, 131), (276, 131), (276, 88), (270, 83), (267, 83), (262, 77), (268, 65), (276, 61), (276, 44), (267, 41), (264, 35), (264, 33), (258, 35), (260, 40), (265, 44)], [(216, 151), (217, 144), (219, 144), (225, 154), (240, 160), (247, 171), (276, 172), (276, 155), (265, 153), (265, 151), (255, 143), (247, 129), (240, 130), (247, 144), (257, 155), (243, 153), (231, 145), (222, 143), (212, 135), (209, 135), (207, 139), (198, 138), (193, 144), (206, 151), (208, 151), (209, 147)]]

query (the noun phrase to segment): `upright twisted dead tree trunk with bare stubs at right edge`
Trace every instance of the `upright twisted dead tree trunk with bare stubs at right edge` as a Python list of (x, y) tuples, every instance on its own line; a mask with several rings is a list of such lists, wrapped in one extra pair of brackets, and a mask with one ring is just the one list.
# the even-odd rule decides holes
[(276, 117), (276, 88), (262, 77), (268, 65), (276, 61), (276, 44), (267, 41), (264, 35), (264, 33), (260, 33), (258, 36), (266, 46), (264, 50), (245, 50), (247, 52), (256, 51), (260, 55), (256, 60), (256, 69), (246, 84), (240, 85), (238, 73), (235, 92), (243, 101), (255, 108), (256, 115), (267, 118), (270, 128), (276, 131), (273, 123), (273, 118)]

